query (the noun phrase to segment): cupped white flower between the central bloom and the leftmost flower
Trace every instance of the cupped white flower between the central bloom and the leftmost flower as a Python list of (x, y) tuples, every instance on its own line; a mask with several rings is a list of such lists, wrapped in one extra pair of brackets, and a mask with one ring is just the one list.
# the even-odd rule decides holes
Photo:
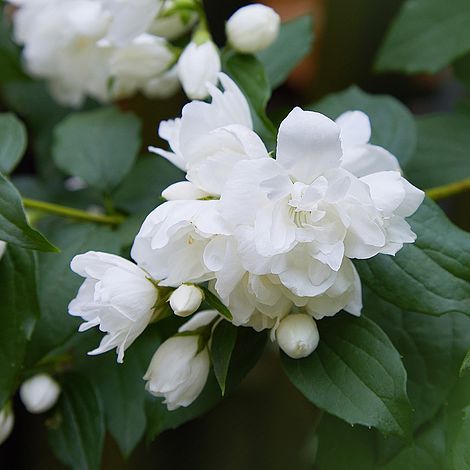
[(132, 247), (132, 258), (159, 285), (178, 287), (213, 277), (204, 250), (214, 234), (228, 235), (219, 201), (169, 201), (145, 219)]

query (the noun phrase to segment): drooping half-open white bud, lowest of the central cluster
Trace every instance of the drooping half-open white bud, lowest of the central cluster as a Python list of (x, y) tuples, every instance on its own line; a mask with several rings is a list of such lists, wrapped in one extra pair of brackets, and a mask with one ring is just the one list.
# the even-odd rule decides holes
[(201, 393), (209, 374), (209, 352), (200, 350), (199, 335), (173, 336), (155, 352), (144, 380), (146, 389), (165, 397), (168, 410), (189, 406)]

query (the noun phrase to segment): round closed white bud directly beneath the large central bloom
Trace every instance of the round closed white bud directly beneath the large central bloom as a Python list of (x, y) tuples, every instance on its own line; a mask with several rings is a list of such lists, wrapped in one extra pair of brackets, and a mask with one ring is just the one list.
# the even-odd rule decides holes
[(306, 314), (287, 315), (276, 331), (279, 347), (293, 359), (309, 356), (318, 346), (318, 335), (315, 320)]

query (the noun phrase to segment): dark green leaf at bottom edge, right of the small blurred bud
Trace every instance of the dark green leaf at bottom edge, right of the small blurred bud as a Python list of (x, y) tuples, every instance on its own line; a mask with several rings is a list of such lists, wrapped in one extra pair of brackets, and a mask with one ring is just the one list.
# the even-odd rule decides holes
[(57, 412), (49, 422), (49, 442), (63, 464), (74, 470), (100, 468), (104, 411), (91, 382), (78, 375), (65, 376)]

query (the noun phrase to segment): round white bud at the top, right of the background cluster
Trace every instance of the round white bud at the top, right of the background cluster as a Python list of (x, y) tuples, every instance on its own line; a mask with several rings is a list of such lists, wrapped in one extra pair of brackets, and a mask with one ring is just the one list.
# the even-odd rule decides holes
[(281, 19), (260, 3), (237, 10), (227, 21), (225, 31), (231, 46), (245, 53), (255, 53), (270, 46), (279, 34)]

